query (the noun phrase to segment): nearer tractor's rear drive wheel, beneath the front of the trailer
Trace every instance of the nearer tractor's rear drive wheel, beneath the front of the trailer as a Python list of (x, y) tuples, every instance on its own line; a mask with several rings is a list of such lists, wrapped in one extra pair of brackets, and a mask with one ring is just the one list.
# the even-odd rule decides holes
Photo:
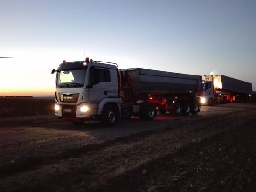
[(140, 103), (139, 118), (142, 120), (153, 120), (157, 115), (154, 103)]

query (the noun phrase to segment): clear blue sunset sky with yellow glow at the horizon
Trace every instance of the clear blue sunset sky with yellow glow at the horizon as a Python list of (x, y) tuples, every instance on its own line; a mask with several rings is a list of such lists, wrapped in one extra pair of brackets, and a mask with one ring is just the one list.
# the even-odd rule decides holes
[(54, 95), (62, 60), (227, 75), (256, 91), (256, 0), (0, 0), (0, 96)]

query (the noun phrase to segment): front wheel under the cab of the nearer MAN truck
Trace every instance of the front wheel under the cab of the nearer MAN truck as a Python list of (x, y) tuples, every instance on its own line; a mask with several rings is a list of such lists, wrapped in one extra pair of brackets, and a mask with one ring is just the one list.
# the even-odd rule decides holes
[(101, 114), (101, 123), (105, 127), (111, 127), (118, 123), (118, 120), (119, 118), (116, 108), (111, 104), (105, 105)]

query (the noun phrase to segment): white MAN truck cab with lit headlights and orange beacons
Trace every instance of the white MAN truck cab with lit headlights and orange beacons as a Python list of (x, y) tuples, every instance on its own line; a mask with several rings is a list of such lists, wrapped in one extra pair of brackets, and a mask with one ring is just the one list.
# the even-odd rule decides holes
[(112, 124), (120, 117), (118, 67), (104, 62), (63, 61), (56, 74), (55, 115), (72, 123), (101, 120)]

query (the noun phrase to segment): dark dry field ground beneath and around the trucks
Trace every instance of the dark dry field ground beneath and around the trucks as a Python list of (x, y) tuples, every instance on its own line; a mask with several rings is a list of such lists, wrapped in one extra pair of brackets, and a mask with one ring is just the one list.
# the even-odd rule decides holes
[(1, 192), (256, 191), (254, 103), (132, 117), (111, 128), (63, 122), (53, 106), (0, 99)]

